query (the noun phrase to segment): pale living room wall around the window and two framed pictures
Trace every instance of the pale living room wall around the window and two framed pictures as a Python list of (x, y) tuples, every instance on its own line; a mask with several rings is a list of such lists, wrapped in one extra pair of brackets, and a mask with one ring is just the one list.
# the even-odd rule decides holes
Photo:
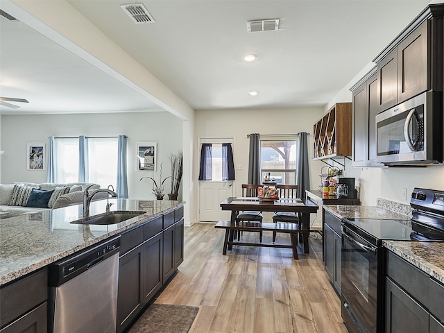
[[(46, 170), (26, 169), (26, 143), (44, 142), (48, 137), (77, 137), (128, 135), (128, 194), (130, 198), (152, 200), (151, 181), (143, 176), (153, 176), (151, 171), (136, 171), (137, 142), (157, 142), (157, 172), (163, 163), (162, 177), (170, 176), (168, 155), (182, 149), (182, 120), (169, 112), (138, 112), (125, 114), (58, 114), (58, 115), (17, 115), (1, 117), (1, 180), (46, 182)], [(47, 154), (46, 154), (47, 155)], [(47, 161), (47, 156), (45, 157)], [(46, 162), (45, 161), (45, 162)], [(169, 181), (165, 182), (169, 191)]]

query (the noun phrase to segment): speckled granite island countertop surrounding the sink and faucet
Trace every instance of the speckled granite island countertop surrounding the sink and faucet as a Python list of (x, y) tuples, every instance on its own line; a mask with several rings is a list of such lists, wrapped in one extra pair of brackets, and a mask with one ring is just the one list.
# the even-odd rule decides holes
[[(114, 225), (83, 225), (71, 223), (82, 219), (83, 205), (72, 205), (0, 219), (0, 285), (183, 205), (172, 200), (109, 201), (111, 211), (145, 213)], [(93, 201), (89, 216), (105, 213), (106, 203)]]

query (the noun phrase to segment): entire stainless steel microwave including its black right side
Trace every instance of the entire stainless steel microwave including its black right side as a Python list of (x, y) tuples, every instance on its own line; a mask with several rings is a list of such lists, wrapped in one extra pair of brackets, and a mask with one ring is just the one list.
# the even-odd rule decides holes
[(424, 92), (376, 115), (376, 161), (443, 163), (443, 94)]

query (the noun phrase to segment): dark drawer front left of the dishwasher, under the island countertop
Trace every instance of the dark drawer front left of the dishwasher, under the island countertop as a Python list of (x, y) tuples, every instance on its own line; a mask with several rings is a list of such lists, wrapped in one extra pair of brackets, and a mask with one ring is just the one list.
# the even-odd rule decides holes
[(48, 299), (48, 269), (0, 289), (1, 327)]

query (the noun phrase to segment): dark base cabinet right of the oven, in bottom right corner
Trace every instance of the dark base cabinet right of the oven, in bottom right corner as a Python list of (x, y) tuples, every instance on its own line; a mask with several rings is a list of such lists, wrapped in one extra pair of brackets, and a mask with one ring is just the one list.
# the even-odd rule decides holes
[(387, 252), (386, 332), (444, 332), (444, 285)]

